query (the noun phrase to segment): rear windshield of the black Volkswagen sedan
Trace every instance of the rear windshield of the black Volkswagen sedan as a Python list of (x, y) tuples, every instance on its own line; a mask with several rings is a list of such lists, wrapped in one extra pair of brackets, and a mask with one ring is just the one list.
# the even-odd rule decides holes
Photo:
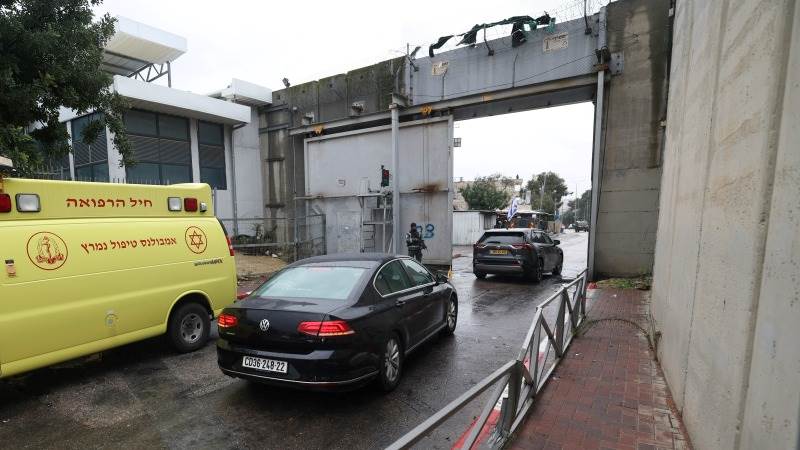
[(344, 300), (365, 271), (359, 267), (292, 267), (272, 277), (252, 296)]

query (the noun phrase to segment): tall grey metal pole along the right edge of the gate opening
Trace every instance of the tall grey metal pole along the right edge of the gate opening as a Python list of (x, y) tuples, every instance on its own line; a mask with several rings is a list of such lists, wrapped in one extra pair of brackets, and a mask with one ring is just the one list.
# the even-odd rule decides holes
[[(600, 26), (597, 30), (597, 46), (602, 49), (606, 46), (606, 8), (600, 9)], [(601, 61), (602, 63), (603, 61)], [(602, 67), (602, 66), (601, 66)], [(594, 279), (594, 254), (597, 236), (597, 214), (600, 199), (600, 166), (602, 165), (602, 131), (603, 131), (603, 88), (605, 70), (597, 72), (597, 98), (594, 106), (594, 149), (592, 151), (592, 209), (589, 219), (589, 273), (590, 280)]]

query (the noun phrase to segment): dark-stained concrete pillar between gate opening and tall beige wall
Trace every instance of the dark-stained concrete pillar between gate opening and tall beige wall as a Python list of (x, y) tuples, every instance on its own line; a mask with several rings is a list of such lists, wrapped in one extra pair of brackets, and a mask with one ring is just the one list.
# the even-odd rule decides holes
[(606, 84), (596, 277), (650, 273), (658, 223), (669, 2), (610, 3), (608, 48), (624, 59)]

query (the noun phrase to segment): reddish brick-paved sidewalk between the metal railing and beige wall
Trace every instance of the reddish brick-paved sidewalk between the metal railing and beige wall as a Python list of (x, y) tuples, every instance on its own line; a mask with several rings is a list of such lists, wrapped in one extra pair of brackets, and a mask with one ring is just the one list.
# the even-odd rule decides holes
[[(590, 328), (520, 427), (513, 449), (689, 449), (647, 338), (647, 292), (588, 291)], [(623, 319), (603, 320), (603, 319)], [(596, 322), (593, 322), (596, 321)]]

